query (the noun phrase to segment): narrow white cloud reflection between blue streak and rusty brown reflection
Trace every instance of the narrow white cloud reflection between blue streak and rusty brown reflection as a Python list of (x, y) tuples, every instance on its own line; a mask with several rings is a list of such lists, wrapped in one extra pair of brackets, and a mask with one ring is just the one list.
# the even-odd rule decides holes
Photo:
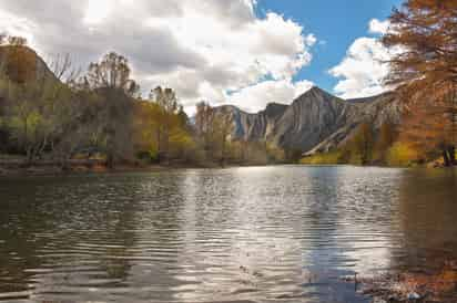
[(337, 229), (334, 236), (339, 258), (360, 274), (390, 267), (393, 223), (400, 170), (343, 168), (338, 171)]

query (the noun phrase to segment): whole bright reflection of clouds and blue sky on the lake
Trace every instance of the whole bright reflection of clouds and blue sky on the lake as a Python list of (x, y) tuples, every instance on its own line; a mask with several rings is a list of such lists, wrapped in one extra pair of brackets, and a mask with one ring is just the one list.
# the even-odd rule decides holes
[[(179, 216), (185, 232), (177, 262), (185, 270), (175, 278), (194, 284), (177, 286), (177, 299), (351, 295), (352, 286), (332, 276), (385, 269), (390, 259), (390, 226), (375, 217), (389, 216), (395, 184), (388, 180), (396, 173), (376, 171), (373, 179), (367, 171), (240, 168), (189, 175)], [(367, 191), (379, 180), (386, 186)]]

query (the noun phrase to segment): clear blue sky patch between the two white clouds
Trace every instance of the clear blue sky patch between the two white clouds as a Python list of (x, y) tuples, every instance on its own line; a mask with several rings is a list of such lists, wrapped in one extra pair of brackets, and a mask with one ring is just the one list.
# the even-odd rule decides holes
[(322, 43), (311, 50), (313, 61), (294, 80), (311, 80), (333, 92), (338, 80), (328, 70), (345, 58), (356, 39), (367, 35), (370, 20), (386, 20), (400, 3), (400, 0), (258, 0), (256, 13), (278, 12), (316, 35)]

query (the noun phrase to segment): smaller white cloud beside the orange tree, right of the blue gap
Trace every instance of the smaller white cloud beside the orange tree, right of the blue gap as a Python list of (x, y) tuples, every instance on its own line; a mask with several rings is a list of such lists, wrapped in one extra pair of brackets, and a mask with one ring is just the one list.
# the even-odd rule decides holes
[[(388, 31), (388, 21), (372, 20), (369, 32), (383, 34)], [(336, 94), (344, 98), (366, 97), (388, 91), (384, 79), (389, 73), (388, 61), (397, 51), (385, 48), (377, 38), (358, 38), (349, 46), (344, 60), (329, 70), (338, 77), (334, 87)]]

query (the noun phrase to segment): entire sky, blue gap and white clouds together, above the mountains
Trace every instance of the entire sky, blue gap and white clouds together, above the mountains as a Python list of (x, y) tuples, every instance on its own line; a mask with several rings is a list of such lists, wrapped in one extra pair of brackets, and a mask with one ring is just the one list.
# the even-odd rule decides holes
[(0, 0), (0, 32), (47, 61), (85, 70), (125, 55), (144, 93), (174, 88), (195, 104), (248, 112), (319, 86), (343, 98), (379, 94), (392, 51), (378, 38), (400, 0)]

